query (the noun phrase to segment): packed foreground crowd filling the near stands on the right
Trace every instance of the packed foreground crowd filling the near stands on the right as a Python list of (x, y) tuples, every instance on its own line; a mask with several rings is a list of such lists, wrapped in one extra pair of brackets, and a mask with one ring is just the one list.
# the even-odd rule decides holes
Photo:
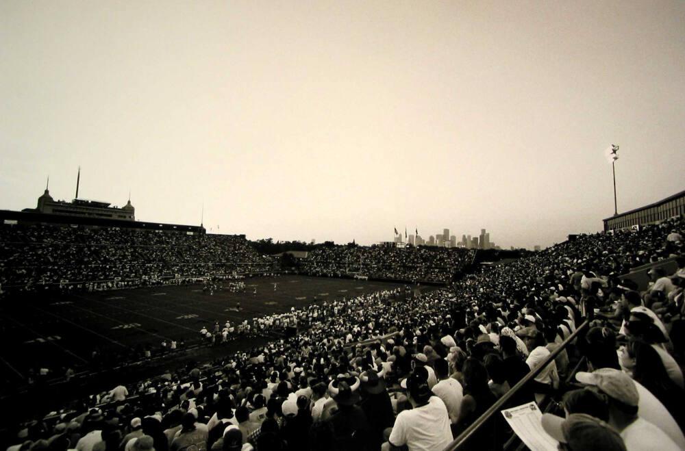
[[(549, 407), (562, 449), (685, 449), (684, 226), (583, 235), (406, 300), (312, 305), (294, 337), (75, 402), (8, 451), (441, 450), (542, 365), (504, 407)], [(619, 277), (667, 259), (641, 291)], [(493, 415), (462, 449), (510, 434)]]

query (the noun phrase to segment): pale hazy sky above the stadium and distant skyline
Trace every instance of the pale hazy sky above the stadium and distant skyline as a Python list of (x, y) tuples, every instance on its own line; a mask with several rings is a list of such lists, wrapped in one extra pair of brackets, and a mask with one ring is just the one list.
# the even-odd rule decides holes
[(547, 246), (685, 189), (683, 1), (0, 1), (0, 209)]

